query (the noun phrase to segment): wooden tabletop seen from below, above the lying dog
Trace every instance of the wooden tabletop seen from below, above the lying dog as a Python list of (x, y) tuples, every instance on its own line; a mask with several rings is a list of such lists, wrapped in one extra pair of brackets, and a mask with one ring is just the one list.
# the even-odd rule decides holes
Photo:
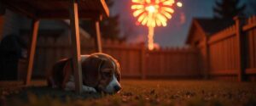
[[(80, 19), (108, 16), (104, 0), (78, 0)], [(68, 19), (70, 0), (1, 0), (6, 8), (34, 19)]]

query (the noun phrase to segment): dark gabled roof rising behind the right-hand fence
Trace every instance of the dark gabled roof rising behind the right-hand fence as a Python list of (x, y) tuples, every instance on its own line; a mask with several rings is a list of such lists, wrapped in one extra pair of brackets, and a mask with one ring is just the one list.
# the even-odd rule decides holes
[(217, 20), (212, 18), (195, 18), (192, 20), (192, 23), (190, 25), (189, 29), (189, 36), (186, 40), (186, 43), (189, 44), (193, 37), (196, 35), (193, 35), (194, 30), (197, 28), (199, 29), (203, 34), (203, 36), (212, 36), (218, 31), (224, 30), (224, 28), (229, 27), (230, 25), (234, 25), (234, 20)]

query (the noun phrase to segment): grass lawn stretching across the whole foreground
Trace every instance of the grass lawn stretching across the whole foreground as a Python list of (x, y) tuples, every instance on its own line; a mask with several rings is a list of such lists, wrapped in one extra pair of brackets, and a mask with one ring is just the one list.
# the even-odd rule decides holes
[[(0, 83), (1, 84), (1, 83)], [(256, 83), (229, 81), (139, 81), (123, 80), (115, 95), (63, 92), (45, 87), (0, 86), (1, 103), (8, 106), (87, 106), (87, 105), (189, 105), (256, 106)], [(1, 104), (0, 103), (0, 104)]]

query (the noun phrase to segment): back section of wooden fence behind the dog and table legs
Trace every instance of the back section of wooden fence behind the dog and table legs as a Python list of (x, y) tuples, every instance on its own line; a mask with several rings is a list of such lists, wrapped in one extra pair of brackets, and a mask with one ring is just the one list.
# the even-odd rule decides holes
[[(94, 40), (81, 41), (81, 53), (95, 52)], [(85, 43), (86, 42), (86, 43)], [(38, 38), (34, 63), (34, 77), (44, 77), (47, 70), (59, 59), (71, 55), (67, 39)], [(123, 78), (198, 78), (199, 55), (195, 48), (174, 47), (148, 51), (143, 44), (126, 44), (118, 41), (102, 41), (103, 53), (117, 59)], [(24, 69), (25, 67), (23, 67)], [(23, 70), (26, 72), (26, 69)]]

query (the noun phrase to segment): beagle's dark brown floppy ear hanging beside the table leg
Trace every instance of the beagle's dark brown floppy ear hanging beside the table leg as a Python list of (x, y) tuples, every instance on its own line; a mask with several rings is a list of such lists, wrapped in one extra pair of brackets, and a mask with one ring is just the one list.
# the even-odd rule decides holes
[(100, 70), (104, 60), (97, 56), (90, 56), (82, 63), (83, 83), (86, 86), (97, 86), (101, 79)]

